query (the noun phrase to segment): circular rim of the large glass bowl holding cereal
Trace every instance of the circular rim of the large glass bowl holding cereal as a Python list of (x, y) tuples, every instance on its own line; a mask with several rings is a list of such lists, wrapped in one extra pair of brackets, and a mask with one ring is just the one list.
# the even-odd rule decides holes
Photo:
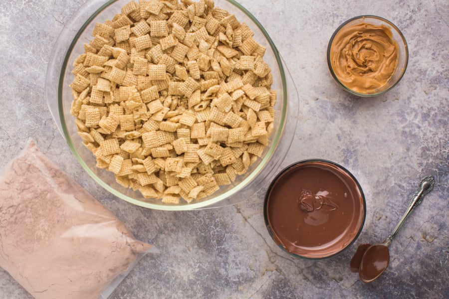
[[(83, 25), (77, 30), (76, 34), (74, 35), (72, 42), (70, 43), (70, 45), (68, 46), (67, 50), (65, 51), (65, 56), (63, 58), (62, 61), (62, 66), (61, 66), (61, 70), (59, 72), (59, 79), (58, 79), (58, 87), (57, 87), (57, 101), (58, 101), (58, 112), (59, 112), (59, 120), (61, 122), (61, 127), (62, 127), (62, 133), (65, 137), (65, 140), (67, 142), (68, 147), (70, 148), (70, 150), (72, 151), (72, 153), (74, 154), (75, 158), (78, 160), (78, 162), (80, 163), (80, 165), (83, 167), (83, 169), (89, 174), (89, 176), (91, 178), (93, 178), (100, 186), (102, 186), (104, 189), (106, 189), (108, 192), (112, 193), (113, 195), (127, 201), (130, 202), (132, 204), (138, 205), (138, 206), (142, 206), (142, 207), (146, 207), (146, 208), (151, 208), (151, 209), (156, 209), (156, 210), (166, 210), (166, 211), (185, 211), (185, 210), (194, 210), (194, 209), (201, 209), (201, 208), (205, 208), (209, 205), (213, 205), (216, 204), (222, 200), (224, 200), (225, 198), (234, 195), (235, 193), (237, 193), (238, 191), (240, 191), (241, 189), (243, 189), (244, 187), (246, 187), (248, 184), (251, 183), (251, 181), (257, 176), (257, 174), (260, 173), (260, 171), (262, 170), (262, 168), (264, 168), (264, 166), (268, 163), (269, 159), (272, 157), (274, 150), (276, 149), (277, 145), (279, 144), (279, 140), (280, 137), (282, 135), (283, 129), (285, 127), (285, 123), (286, 123), (286, 116), (287, 116), (287, 106), (288, 106), (288, 95), (287, 95), (287, 86), (286, 86), (286, 78), (285, 78), (285, 71), (283, 68), (283, 64), (282, 64), (282, 60), (281, 57), (279, 55), (279, 51), (277, 50), (274, 42), (272, 41), (271, 37), (268, 35), (268, 32), (266, 31), (266, 29), (262, 26), (262, 24), (254, 17), (254, 15), (252, 15), (252, 13), (250, 13), (245, 7), (243, 7), (241, 4), (239, 4), (238, 2), (236, 2), (235, 0), (224, 0), (226, 2), (229, 2), (230, 4), (232, 4), (233, 6), (235, 6), (236, 8), (238, 8), (241, 12), (243, 12), (247, 17), (249, 17), (249, 19), (251, 21), (254, 22), (254, 24), (257, 26), (257, 28), (260, 30), (260, 32), (263, 34), (263, 36), (265, 37), (266, 41), (268, 42), (275, 61), (276, 61), (276, 65), (279, 69), (279, 73), (280, 73), (280, 83), (281, 83), (281, 89), (282, 89), (282, 95), (283, 95), (283, 103), (282, 103), (282, 109), (280, 111), (280, 119), (279, 119), (279, 128), (277, 129), (277, 131), (274, 134), (274, 138), (271, 142), (271, 146), (268, 149), (268, 151), (265, 153), (265, 155), (263, 157), (261, 157), (261, 161), (259, 162), (259, 164), (252, 170), (252, 172), (250, 174), (248, 174), (247, 177), (245, 177), (241, 182), (239, 182), (237, 185), (235, 185), (233, 188), (227, 190), (225, 193), (220, 194), (216, 197), (212, 197), (210, 199), (207, 200), (202, 200), (196, 203), (187, 203), (187, 204), (180, 204), (180, 205), (169, 205), (169, 204), (155, 204), (155, 203), (151, 203), (151, 202), (145, 202), (136, 198), (132, 198), (130, 196), (127, 196), (123, 193), (121, 193), (120, 191), (116, 190), (115, 188), (111, 187), (109, 184), (107, 184), (106, 182), (104, 182), (100, 177), (98, 177), (90, 168), (89, 166), (86, 164), (86, 162), (83, 160), (83, 158), (80, 156), (80, 154), (78, 153), (78, 151), (76, 150), (74, 143), (70, 137), (70, 134), (68, 132), (68, 128), (66, 126), (66, 122), (65, 122), (65, 117), (64, 117), (64, 109), (63, 109), (63, 105), (62, 105), (62, 94), (63, 94), (63, 87), (64, 87), (64, 74), (66, 72), (66, 69), (68, 67), (68, 60), (69, 57), (72, 53), (72, 50), (76, 44), (76, 42), (78, 41), (79, 37), (81, 36), (81, 34), (84, 32), (84, 30), (86, 29), (86, 27), (92, 22), (92, 20), (97, 17), (102, 11), (103, 9), (105, 9), (106, 7), (110, 6), (111, 4), (117, 2), (118, 0), (108, 0), (107, 2), (105, 2), (103, 5), (101, 5), (98, 9), (96, 9), (83, 23)], [(75, 12), (75, 14), (71, 17), (71, 20), (74, 19), (74, 17), (79, 14), (84, 8), (84, 4), (80, 6), (80, 8)], [(70, 24), (70, 21), (69, 21)], [(65, 33), (64, 31), (67, 29), (68, 26), (65, 26), (63, 28), (63, 30), (61, 31), (61, 33), (59, 34), (56, 43), (59, 41), (60, 37)]]

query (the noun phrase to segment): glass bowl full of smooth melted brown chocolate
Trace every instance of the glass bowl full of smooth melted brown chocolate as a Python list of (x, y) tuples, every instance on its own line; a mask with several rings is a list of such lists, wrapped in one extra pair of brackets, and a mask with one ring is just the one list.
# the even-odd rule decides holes
[(303, 160), (286, 167), (265, 195), (269, 234), (297, 258), (341, 253), (359, 236), (365, 216), (365, 196), (357, 179), (328, 160)]

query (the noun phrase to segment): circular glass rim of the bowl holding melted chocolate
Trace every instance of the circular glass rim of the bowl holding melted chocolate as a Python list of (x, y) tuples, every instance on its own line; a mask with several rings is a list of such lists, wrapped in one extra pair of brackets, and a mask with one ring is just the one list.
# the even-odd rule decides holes
[[(312, 163), (313, 162), (322, 162), (322, 163), (331, 164), (331, 165), (334, 165), (334, 166), (340, 168), (340, 170), (342, 170), (343, 172), (348, 174), (354, 180), (354, 182), (356, 184), (356, 187), (359, 189), (360, 195), (361, 195), (361, 198), (362, 198), (363, 217), (362, 217), (362, 222), (360, 223), (360, 228), (359, 228), (357, 234), (354, 236), (354, 238), (351, 240), (351, 242), (348, 245), (346, 245), (344, 248), (342, 248), (341, 250), (339, 250), (338, 252), (336, 252), (336, 253), (334, 253), (332, 255), (324, 256), (324, 257), (305, 257), (305, 256), (302, 256), (302, 255), (298, 255), (298, 254), (294, 254), (294, 253), (288, 252), (282, 245), (277, 244), (277, 242), (274, 240), (274, 233), (271, 230), (271, 224), (268, 221), (268, 213), (267, 213), (268, 198), (269, 198), (271, 190), (274, 187), (274, 185), (277, 182), (277, 180), (284, 173), (289, 171), (291, 168), (296, 167), (296, 166), (301, 165), (301, 164), (306, 164), (306, 163), (311, 163), (311, 162)], [(366, 220), (366, 200), (365, 200), (365, 194), (363, 193), (362, 186), (360, 185), (360, 183), (357, 180), (357, 178), (351, 173), (351, 171), (349, 171), (344, 166), (342, 166), (342, 165), (340, 165), (340, 164), (338, 164), (338, 163), (336, 163), (334, 161), (330, 161), (330, 160), (326, 160), (326, 159), (318, 159), (318, 158), (304, 159), (304, 160), (296, 161), (296, 162), (286, 166), (278, 174), (276, 174), (276, 176), (273, 178), (273, 180), (271, 181), (270, 185), (268, 186), (268, 189), (266, 190), (265, 198), (263, 200), (263, 219), (265, 221), (265, 227), (266, 227), (266, 229), (268, 231), (268, 234), (270, 235), (271, 239), (274, 241), (274, 243), (277, 246), (279, 246), (284, 252), (286, 252), (290, 256), (298, 258), (298, 259), (302, 259), (302, 260), (324, 260), (324, 259), (329, 259), (329, 258), (335, 257), (335, 256), (341, 254), (342, 252), (344, 252), (345, 250), (347, 250), (359, 238), (359, 236), (360, 236), (360, 234), (361, 234), (361, 232), (363, 230), (363, 226), (365, 225), (365, 220)]]

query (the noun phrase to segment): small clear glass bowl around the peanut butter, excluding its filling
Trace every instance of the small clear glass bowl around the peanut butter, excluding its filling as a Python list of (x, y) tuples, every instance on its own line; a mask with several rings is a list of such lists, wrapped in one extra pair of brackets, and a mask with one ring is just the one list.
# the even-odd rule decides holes
[[(367, 93), (360, 93), (360, 92), (354, 91), (354, 90), (348, 88), (343, 82), (341, 82), (333, 70), (331, 58), (330, 58), (332, 43), (333, 43), (334, 38), (337, 35), (337, 33), (340, 30), (342, 30), (343, 28), (347, 28), (349, 26), (357, 25), (360, 23), (368, 23), (368, 24), (377, 25), (377, 26), (385, 25), (387, 28), (390, 29), (390, 31), (392, 33), (392, 39), (397, 42), (398, 47), (399, 47), (398, 64), (397, 64), (396, 69), (395, 69), (393, 75), (391, 76), (391, 78), (388, 80), (388, 82), (385, 85), (379, 87), (376, 90), (373, 90), (373, 91), (370, 91)], [(401, 78), (404, 76), (404, 73), (407, 69), (408, 61), (409, 61), (409, 48), (407, 46), (407, 41), (406, 41), (404, 35), (402, 34), (401, 30), (399, 30), (399, 28), (395, 24), (390, 22), (389, 20), (387, 20), (383, 17), (380, 17), (380, 16), (376, 16), (376, 15), (359, 15), (359, 16), (353, 17), (353, 18), (345, 21), (332, 34), (332, 37), (330, 38), (329, 44), (327, 46), (327, 65), (329, 67), (329, 71), (330, 71), (332, 77), (344, 90), (346, 90), (347, 92), (349, 92), (353, 95), (359, 96), (359, 97), (378, 96), (380, 94), (383, 94), (383, 93), (389, 91), (393, 87), (395, 87), (396, 84), (398, 84), (399, 81), (401, 80)]]

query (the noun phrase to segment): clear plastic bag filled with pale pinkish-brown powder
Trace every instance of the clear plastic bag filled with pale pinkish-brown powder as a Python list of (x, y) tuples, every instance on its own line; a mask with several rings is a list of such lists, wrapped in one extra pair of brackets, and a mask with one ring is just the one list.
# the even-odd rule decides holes
[(2, 169), (0, 267), (34, 298), (107, 298), (151, 251), (32, 141)]

